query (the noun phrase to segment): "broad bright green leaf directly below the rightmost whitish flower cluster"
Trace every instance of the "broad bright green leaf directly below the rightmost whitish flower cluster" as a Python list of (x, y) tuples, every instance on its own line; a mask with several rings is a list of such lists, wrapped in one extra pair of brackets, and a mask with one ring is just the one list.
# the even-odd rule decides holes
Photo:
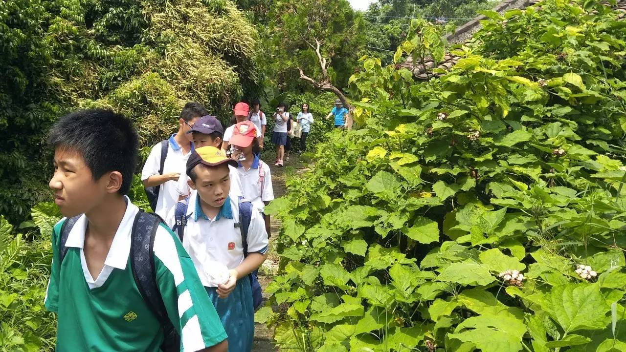
[(552, 288), (540, 303), (566, 333), (607, 325), (609, 307), (598, 284), (562, 284)]

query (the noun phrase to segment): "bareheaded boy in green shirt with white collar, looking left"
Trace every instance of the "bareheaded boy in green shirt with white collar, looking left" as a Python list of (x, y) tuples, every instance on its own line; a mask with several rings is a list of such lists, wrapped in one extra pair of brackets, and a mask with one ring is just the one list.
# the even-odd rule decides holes
[[(177, 236), (125, 195), (138, 159), (131, 121), (111, 111), (76, 111), (54, 124), (48, 142), (49, 186), (66, 216), (54, 226), (45, 303), (57, 313), (56, 351), (157, 352), (171, 337), (163, 332), (168, 324), (180, 338), (172, 351), (227, 351), (220, 319)], [(133, 229), (143, 231), (145, 219), (156, 219), (146, 229), (153, 250), (133, 258), (142, 239)], [(162, 298), (163, 319), (138, 288), (136, 266), (146, 263), (153, 263), (148, 282)]]

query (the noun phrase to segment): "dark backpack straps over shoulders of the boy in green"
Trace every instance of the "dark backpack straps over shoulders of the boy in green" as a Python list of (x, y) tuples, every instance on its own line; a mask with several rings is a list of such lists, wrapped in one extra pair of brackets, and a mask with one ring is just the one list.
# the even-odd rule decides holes
[[(63, 258), (68, 253), (68, 247), (65, 246), (65, 243), (78, 218), (80, 218), (80, 215), (68, 218), (61, 226), (61, 238), (59, 241), (61, 243), (59, 247), (60, 263), (63, 263)], [(180, 336), (167, 316), (165, 303), (163, 303), (163, 298), (156, 284), (153, 248), (156, 230), (160, 223), (165, 224), (165, 221), (160, 216), (153, 213), (145, 213), (141, 209), (135, 216), (133, 231), (130, 236), (131, 270), (143, 301), (148, 304), (148, 308), (155, 314), (156, 319), (160, 321), (163, 327), (165, 338), (161, 345), (161, 351), (178, 352), (180, 351)]]

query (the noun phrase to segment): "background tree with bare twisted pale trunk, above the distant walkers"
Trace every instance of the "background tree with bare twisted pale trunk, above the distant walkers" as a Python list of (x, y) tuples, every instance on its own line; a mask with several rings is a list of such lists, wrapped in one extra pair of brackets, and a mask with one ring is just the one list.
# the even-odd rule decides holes
[(316, 89), (331, 91), (350, 106), (347, 84), (365, 41), (364, 21), (346, 0), (279, 1), (268, 42), (277, 76), (285, 71)]

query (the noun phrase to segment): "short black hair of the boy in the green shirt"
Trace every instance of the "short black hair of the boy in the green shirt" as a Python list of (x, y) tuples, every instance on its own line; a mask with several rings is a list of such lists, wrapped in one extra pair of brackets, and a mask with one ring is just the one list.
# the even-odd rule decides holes
[(48, 133), (52, 148), (74, 149), (83, 156), (93, 179), (118, 171), (122, 183), (118, 193), (127, 194), (139, 154), (139, 137), (133, 121), (111, 110), (90, 109), (60, 118)]

